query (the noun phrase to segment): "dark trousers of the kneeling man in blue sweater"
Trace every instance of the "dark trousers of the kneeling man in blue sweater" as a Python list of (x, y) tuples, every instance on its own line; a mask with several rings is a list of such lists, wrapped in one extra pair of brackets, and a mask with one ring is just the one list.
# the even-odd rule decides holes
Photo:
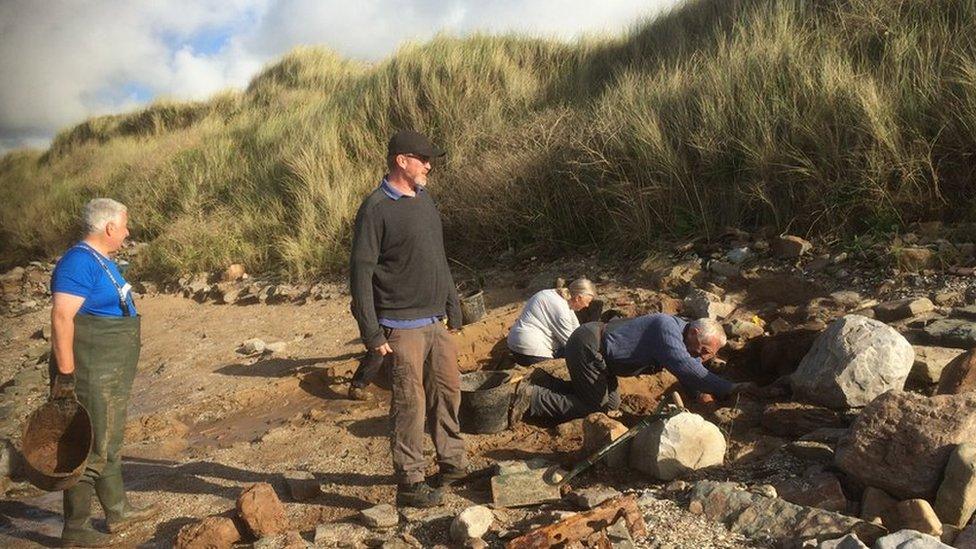
[(607, 369), (600, 351), (603, 326), (589, 322), (569, 336), (566, 367), (570, 381), (537, 386), (528, 415), (570, 420), (620, 406), (617, 377)]

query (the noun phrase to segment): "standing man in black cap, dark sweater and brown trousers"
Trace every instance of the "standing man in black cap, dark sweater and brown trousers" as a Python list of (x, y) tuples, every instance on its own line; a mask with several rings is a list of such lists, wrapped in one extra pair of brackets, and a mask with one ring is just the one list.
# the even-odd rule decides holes
[(438, 484), (467, 468), (458, 426), (457, 350), (442, 319), (461, 327), (457, 289), (444, 253), (440, 213), (424, 190), (430, 161), (444, 152), (414, 131), (387, 146), (389, 173), (356, 214), (350, 259), (352, 313), (370, 353), (391, 355), (390, 403), (397, 504), (439, 505), (425, 479), (424, 426), (440, 467)]

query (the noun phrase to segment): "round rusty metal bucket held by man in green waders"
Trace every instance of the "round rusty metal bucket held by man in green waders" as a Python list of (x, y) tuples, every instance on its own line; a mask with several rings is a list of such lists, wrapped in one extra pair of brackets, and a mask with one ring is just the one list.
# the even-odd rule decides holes
[(27, 418), (21, 452), (27, 479), (42, 490), (70, 488), (85, 470), (93, 433), (88, 410), (76, 400), (52, 400)]

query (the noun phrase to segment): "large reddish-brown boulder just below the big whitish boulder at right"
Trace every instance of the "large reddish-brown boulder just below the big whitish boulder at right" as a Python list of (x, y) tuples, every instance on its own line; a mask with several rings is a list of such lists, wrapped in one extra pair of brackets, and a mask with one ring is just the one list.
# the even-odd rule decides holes
[(854, 421), (834, 464), (899, 499), (933, 499), (956, 444), (976, 440), (976, 393), (923, 397), (890, 391)]

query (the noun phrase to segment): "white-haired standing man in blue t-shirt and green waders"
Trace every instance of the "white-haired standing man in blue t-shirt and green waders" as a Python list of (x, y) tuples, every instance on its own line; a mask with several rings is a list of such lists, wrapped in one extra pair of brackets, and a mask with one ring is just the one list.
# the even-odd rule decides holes
[(133, 505), (122, 485), (120, 452), (140, 326), (131, 286), (111, 256), (129, 235), (128, 212), (115, 200), (96, 198), (85, 206), (84, 222), (84, 239), (65, 252), (51, 276), (51, 399), (77, 400), (92, 424), (85, 470), (64, 490), (61, 542), (110, 547), (114, 537), (90, 523), (93, 495), (111, 533), (152, 518), (156, 509)]

